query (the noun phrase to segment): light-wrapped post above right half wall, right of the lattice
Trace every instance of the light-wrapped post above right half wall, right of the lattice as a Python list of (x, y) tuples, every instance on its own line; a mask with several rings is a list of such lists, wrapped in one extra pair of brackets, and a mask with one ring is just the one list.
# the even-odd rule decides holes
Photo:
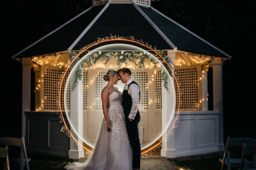
[(199, 111), (208, 111), (208, 87), (207, 87), (207, 72), (208, 66), (200, 65), (197, 66), (197, 75), (198, 78), (201, 77), (198, 81), (198, 103), (199, 103)]

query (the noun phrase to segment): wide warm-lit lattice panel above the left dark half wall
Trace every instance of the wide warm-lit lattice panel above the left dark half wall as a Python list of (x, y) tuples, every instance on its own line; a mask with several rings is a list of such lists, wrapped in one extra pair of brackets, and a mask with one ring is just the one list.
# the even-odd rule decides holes
[[(43, 110), (45, 111), (56, 111), (56, 97), (58, 97), (58, 86), (57, 83), (59, 81), (59, 76), (62, 74), (64, 69), (61, 68), (50, 68), (46, 67), (45, 70), (45, 76), (43, 77), (44, 82), (44, 97), (46, 99), (44, 100)], [(61, 88), (61, 109), (63, 112), (65, 112), (64, 108), (64, 89), (65, 84), (67, 81), (67, 77), (69, 76), (70, 70), (67, 71), (64, 79), (63, 79), (63, 85)], [(68, 91), (66, 94), (66, 104), (68, 111), (70, 110), (70, 81), (68, 83)]]

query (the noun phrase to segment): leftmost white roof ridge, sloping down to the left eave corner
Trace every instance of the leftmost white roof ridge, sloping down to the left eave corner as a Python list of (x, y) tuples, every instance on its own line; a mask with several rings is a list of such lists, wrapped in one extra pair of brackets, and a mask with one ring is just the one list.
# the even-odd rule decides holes
[(43, 39), (45, 39), (46, 37), (48, 37), (49, 35), (53, 34), (54, 32), (58, 31), (59, 29), (61, 29), (62, 27), (64, 27), (65, 25), (67, 25), (68, 23), (70, 23), (71, 21), (75, 20), (76, 18), (78, 18), (79, 16), (83, 15), (85, 12), (89, 11), (93, 6), (87, 8), (85, 11), (81, 12), (80, 14), (78, 14), (77, 16), (75, 16), (74, 18), (70, 19), (69, 21), (67, 21), (66, 23), (62, 24), (61, 26), (59, 26), (58, 28), (54, 29), (53, 31), (51, 31), (50, 33), (48, 33), (47, 35), (43, 36), (41, 39), (35, 41), (33, 44), (30, 44), (29, 46), (27, 46), (26, 48), (24, 48), (23, 50), (21, 50), (20, 52), (16, 53), (14, 56), (12, 56), (12, 58), (17, 57), (19, 54), (21, 54), (22, 52), (26, 51), (27, 49), (29, 49), (30, 47), (32, 47), (33, 45), (37, 44), (38, 42), (42, 41)]

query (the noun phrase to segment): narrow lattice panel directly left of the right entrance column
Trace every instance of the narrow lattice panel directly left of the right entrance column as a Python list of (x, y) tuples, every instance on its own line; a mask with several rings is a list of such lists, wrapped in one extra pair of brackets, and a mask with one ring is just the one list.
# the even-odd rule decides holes
[(161, 70), (155, 71), (155, 108), (162, 109), (162, 79)]

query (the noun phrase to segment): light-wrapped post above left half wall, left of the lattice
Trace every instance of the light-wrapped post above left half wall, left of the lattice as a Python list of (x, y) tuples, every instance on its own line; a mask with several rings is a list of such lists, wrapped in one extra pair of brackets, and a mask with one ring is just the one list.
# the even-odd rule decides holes
[[(43, 75), (45, 74), (45, 66), (34, 66), (35, 72), (35, 111), (44, 111), (44, 86)], [(39, 86), (38, 86), (39, 84)], [(36, 89), (38, 88), (38, 89)]]

